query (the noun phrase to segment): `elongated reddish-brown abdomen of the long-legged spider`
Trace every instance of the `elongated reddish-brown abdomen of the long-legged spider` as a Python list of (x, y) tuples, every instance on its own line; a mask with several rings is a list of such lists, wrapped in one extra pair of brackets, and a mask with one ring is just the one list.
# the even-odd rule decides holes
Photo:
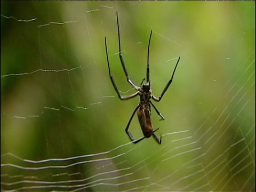
[(138, 119), (143, 135), (146, 138), (151, 137), (153, 132), (153, 125), (151, 121), (151, 109), (149, 103), (143, 103), (137, 110)]

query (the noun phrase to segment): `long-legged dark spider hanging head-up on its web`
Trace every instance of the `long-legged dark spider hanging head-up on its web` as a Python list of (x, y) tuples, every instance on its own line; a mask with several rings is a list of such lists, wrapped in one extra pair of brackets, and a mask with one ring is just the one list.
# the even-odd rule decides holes
[[(175, 68), (173, 70), (172, 73), (172, 77), (169, 80), (169, 82), (167, 83), (167, 85), (165, 86), (162, 94), (160, 95), (160, 97), (155, 97), (154, 94), (152, 94), (151, 92), (151, 82), (149, 81), (149, 47), (150, 47), (150, 41), (151, 41), (151, 36), (152, 36), (152, 30), (150, 32), (150, 36), (149, 36), (149, 42), (148, 42), (148, 57), (147, 57), (147, 73), (146, 73), (146, 78), (144, 78), (140, 84), (140, 86), (135, 85), (132, 80), (129, 78), (129, 75), (127, 73), (127, 69), (125, 67), (125, 63), (123, 60), (123, 56), (122, 56), (122, 52), (121, 52), (121, 42), (120, 42), (120, 31), (119, 31), (119, 22), (118, 22), (118, 13), (116, 12), (116, 20), (117, 20), (117, 31), (118, 31), (118, 43), (119, 43), (119, 59), (122, 63), (122, 67), (127, 79), (127, 82), (130, 83), (132, 85), (132, 87), (137, 90), (137, 92), (131, 94), (131, 95), (121, 95), (121, 93), (119, 92), (119, 90), (117, 89), (117, 85), (114, 81), (114, 78), (111, 74), (110, 71), (110, 67), (109, 67), (109, 59), (108, 59), (108, 49), (107, 49), (107, 37), (105, 37), (105, 48), (106, 48), (106, 55), (107, 55), (107, 62), (108, 62), (108, 71), (109, 71), (109, 77), (110, 80), (114, 86), (114, 89), (118, 95), (118, 98), (121, 100), (128, 100), (131, 98), (136, 97), (137, 95), (139, 95), (140, 97), (140, 103), (139, 105), (135, 108), (135, 110), (132, 113), (132, 116), (130, 117), (130, 120), (126, 126), (125, 132), (126, 134), (129, 136), (130, 140), (133, 143), (138, 143), (141, 140), (145, 139), (145, 138), (150, 138), (151, 135), (153, 135), (153, 137), (155, 138), (155, 140), (159, 143), (159, 145), (161, 145), (162, 142), (162, 135), (160, 138), (157, 137), (156, 135), (156, 131), (159, 129), (159, 127), (156, 130), (153, 130), (153, 125), (152, 125), (152, 121), (151, 121), (151, 108), (150, 108), (150, 104), (153, 106), (153, 108), (156, 110), (156, 113), (162, 118), (160, 120), (164, 120), (164, 116), (159, 112), (159, 110), (156, 108), (156, 106), (154, 105), (154, 103), (150, 100), (153, 99), (154, 101), (161, 101), (161, 99), (164, 96), (164, 93), (167, 91), (167, 89), (169, 88), (169, 86), (172, 83), (172, 79), (175, 73), (175, 70), (178, 66), (178, 63), (180, 61), (180, 57), (175, 65)], [(146, 83), (144, 83), (146, 80)], [(138, 119), (139, 119), (139, 123), (141, 126), (141, 130), (143, 132), (144, 137), (135, 140), (132, 136), (132, 134), (129, 132), (129, 126), (131, 124), (131, 121), (133, 119), (134, 114), (136, 113), (138, 114)]]

